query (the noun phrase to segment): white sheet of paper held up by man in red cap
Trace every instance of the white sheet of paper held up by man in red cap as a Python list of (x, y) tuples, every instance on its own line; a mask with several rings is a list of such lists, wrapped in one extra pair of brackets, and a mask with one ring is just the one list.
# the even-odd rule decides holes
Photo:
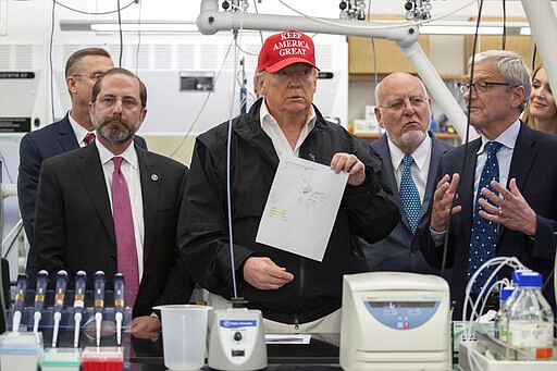
[(347, 181), (320, 163), (281, 160), (256, 240), (322, 261)]

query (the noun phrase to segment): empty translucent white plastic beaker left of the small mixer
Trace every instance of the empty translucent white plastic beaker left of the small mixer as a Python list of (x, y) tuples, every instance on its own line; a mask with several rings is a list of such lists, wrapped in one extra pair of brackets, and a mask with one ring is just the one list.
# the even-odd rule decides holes
[(164, 366), (171, 370), (199, 370), (205, 364), (207, 323), (211, 307), (169, 305), (161, 311)]

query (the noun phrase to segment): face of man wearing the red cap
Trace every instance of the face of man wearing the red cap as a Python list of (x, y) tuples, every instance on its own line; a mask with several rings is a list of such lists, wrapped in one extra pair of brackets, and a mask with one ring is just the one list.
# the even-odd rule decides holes
[(271, 114), (308, 112), (317, 87), (317, 71), (307, 63), (294, 63), (282, 70), (261, 75), (261, 95)]

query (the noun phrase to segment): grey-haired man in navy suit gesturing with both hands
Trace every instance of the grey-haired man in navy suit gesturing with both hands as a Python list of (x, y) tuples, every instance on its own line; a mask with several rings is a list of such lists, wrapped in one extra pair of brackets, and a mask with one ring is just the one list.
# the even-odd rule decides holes
[[(475, 54), (470, 66), (472, 61), (473, 79), (469, 74), (461, 87), (470, 124), (481, 137), (442, 158), (440, 182), (433, 197), (431, 233), (422, 235), (420, 247), (436, 267), (444, 263), (446, 252), (445, 263), (453, 268), (450, 295), (457, 304), (454, 318), (460, 319), (470, 273), (480, 268), (471, 251), (478, 251), (474, 256), (483, 253), (471, 240), (474, 203), (479, 198), (478, 217), (497, 226), (493, 255), (517, 257), (528, 268), (541, 272), (545, 281), (544, 296), (555, 310), (552, 270), (554, 232), (557, 231), (557, 136), (533, 131), (519, 120), (530, 97), (531, 84), (520, 55), (490, 50)], [(488, 153), (493, 145), (487, 145), (488, 141), (500, 144), (496, 152), (499, 181), (490, 182), (493, 190), (478, 189), (484, 164), (493, 163), (490, 160), (493, 154)], [(476, 197), (479, 191), (483, 197)], [(480, 219), (475, 220), (478, 224)], [(509, 275), (510, 270), (505, 269), (499, 271), (498, 277)]]

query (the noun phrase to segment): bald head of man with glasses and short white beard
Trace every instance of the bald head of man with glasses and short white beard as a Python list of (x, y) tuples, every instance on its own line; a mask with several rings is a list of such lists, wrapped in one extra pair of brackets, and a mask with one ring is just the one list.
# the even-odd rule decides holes
[(381, 82), (375, 115), (388, 138), (405, 153), (411, 153), (430, 128), (430, 99), (421, 82), (395, 73)]

